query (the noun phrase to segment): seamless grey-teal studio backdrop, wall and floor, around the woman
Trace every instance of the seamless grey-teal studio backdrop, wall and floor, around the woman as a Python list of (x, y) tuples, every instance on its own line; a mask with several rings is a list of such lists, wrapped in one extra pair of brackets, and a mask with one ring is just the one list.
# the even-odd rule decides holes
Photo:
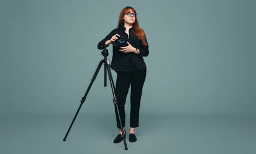
[[(137, 11), (139, 25), (149, 42), (149, 56), (144, 57), (147, 77), (140, 106), (142, 129), (135, 129), (135, 134), (142, 136), (132, 145), (127, 139), (130, 146), (127, 152), (132, 149), (140, 152), (145, 146), (148, 153), (161, 153), (173, 146), (175, 153), (220, 153), (214, 151), (220, 149), (224, 153), (240, 153), (241, 148), (235, 144), (234, 151), (231, 150), (228, 146), (231, 141), (244, 145), (241, 152), (255, 150), (255, 1), (1, 0), (0, 114), (4, 139), (1, 137), (0, 152), (44, 153), (41, 148), (51, 150), (49, 153), (74, 150), (99, 153), (97, 150), (106, 149), (123, 152), (122, 142), (117, 147), (112, 143), (118, 130), (109, 80), (104, 88), (103, 67), (68, 136), (72, 140), (62, 142), (62, 138), (103, 59), (96, 45), (117, 27), (119, 13), (126, 6)], [(108, 50), (111, 61), (112, 46)], [(112, 75), (116, 83), (114, 70)], [(129, 97), (130, 90), (126, 130), (129, 130)], [(223, 120), (226, 117), (233, 120)], [(199, 122), (198, 127), (194, 128), (197, 123), (191, 122), (191, 118)], [(224, 138), (206, 142), (207, 133), (201, 133), (209, 121), (226, 124), (227, 127), (214, 129), (216, 132), (211, 136)], [(232, 121), (236, 126), (229, 123)], [(164, 133), (178, 124), (180, 127), (171, 130), (172, 135)], [(209, 129), (213, 128), (212, 124), (208, 125)], [(196, 136), (203, 138), (184, 143), (182, 137), (190, 138), (191, 134), (184, 133), (191, 128), (198, 130)], [(232, 128), (240, 130), (225, 137)], [(156, 134), (160, 130), (162, 134)], [(180, 131), (180, 135), (175, 131)], [(236, 131), (247, 135), (235, 138)], [(158, 142), (152, 142), (152, 134)], [(172, 141), (170, 138), (175, 138), (175, 134), (177, 138)], [(224, 143), (214, 147), (220, 140)], [(16, 148), (11, 148), (14, 144)], [(189, 145), (195, 150), (183, 151), (183, 146)]]

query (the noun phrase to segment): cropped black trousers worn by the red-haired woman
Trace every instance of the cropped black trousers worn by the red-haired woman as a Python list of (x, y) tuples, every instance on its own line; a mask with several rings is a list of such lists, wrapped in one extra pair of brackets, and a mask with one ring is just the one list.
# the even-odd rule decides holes
[[(125, 127), (126, 125), (126, 113), (124, 110), (124, 105), (126, 104), (126, 96), (129, 91), (130, 85), (130, 127), (139, 127), (140, 98), (142, 96), (142, 88), (144, 85), (147, 69), (145, 68), (144, 70), (116, 72), (116, 98), (118, 102), (118, 109), (122, 122), (122, 127)], [(116, 106), (115, 112), (117, 128), (121, 129)]]

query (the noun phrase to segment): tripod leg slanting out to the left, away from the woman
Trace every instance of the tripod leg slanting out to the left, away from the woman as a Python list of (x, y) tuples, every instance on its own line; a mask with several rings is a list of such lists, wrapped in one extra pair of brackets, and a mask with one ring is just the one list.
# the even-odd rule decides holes
[(78, 107), (78, 110), (76, 111), (75, 117), (74, 117), (74, 119), (72, 120), (71, 125), (70, 125), (70, 127), (68, 128), (68, 132), (66, 132), (66, 135), (65, 135), (63, 141), (66, 141), (66, 137), (68, 136), (68, 134), (69, 134), (69, 132), (70, 132), (70, 129), (71, 129), (73, 123), (75, 122), (76, 116), (78, 115), (78, 112), (80, 111), (83, 102), (85, 102), (86, 96), (87, 96), (87, 94), (89, 93), (89, 89), (91, 88), (91, 85), (93, 84), (94, 79), (95, 79), (96, 76), (98, 75), (99, 70), (101, 69), (101, 65), (103, 64), (103, 62), (104, 62), (104, 60), (101, 60), (101, 61), (99, 62), (99, 65), (98, 65), (98, 67), (97, 67), (97, 69), (96, 69), (96, 71), (95, 71), (95, 73), (94, 73), (94, 75), (93, 75), (93, 78), (91, 79), (91, 83), (89, 84), (89, 87), (88, 87), (87, 90), (86, 90), (85, 96), (83, 96), (82, 99), (81, 99), (81, 101), (80, 101), (81, 104), (80, 104), (80, 106)]

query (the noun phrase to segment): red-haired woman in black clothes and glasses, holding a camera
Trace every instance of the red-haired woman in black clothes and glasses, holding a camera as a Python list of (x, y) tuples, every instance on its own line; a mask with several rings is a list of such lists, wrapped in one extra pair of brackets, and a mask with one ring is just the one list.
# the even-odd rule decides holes
[[(149, 55), (147, 38), (145, 37), (144, 30), (139, 27), (136, 15), (137, 13), (133, 7), (124, 7), (119, 16), (117, 28), (112, 30), (103, 40), (101, 40), (101, 42), (98, 43), (98, 48), (103, 49), (102, 46), (115, 42), (119, 37), (127, 40), (126, 47), (117, 48), (113, 45), (111, 68), (117, 73), (116, 98), (123, 126), (122, 129), (125, 133), (124, 137), (126, 137), (126, 130), (124, 129), (126, 120), (124, 105), (126, 104), (126, 96), (131, 84), (130, 142), (135, 142), (137, 140), (134, 134), (134, 129), (135, 127), (139, 127), (140, 98), (142, 96), (142, 88), (147, 72), (143, 57), (147, 57)], [(119, 134), (114, 139), (114, 143), (119, 143), (123, 138), (116, 106), (115, 112)]]

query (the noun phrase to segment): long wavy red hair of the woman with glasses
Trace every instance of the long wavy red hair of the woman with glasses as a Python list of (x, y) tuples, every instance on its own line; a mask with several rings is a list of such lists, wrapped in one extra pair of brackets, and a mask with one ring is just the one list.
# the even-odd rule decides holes
[[(120, 12), (119, 20), (118, 20), (118, 26), (117, 28), (124, 26), (124, 20), (122, 17), (126, 15), (126, 12), (133, 11), (136, 13), (135, 9), (131, 6), (126, 6), (122, 11)], [(136, 35), (140, 40), (142, 40), (142, 45), (147, 45), (145, 42), (145, 32), (143, 29), (140, 29), (139, 23), (138, 23), (138, 17), (135, 17), (135, 22), (133, 24), (132, 34)]]

